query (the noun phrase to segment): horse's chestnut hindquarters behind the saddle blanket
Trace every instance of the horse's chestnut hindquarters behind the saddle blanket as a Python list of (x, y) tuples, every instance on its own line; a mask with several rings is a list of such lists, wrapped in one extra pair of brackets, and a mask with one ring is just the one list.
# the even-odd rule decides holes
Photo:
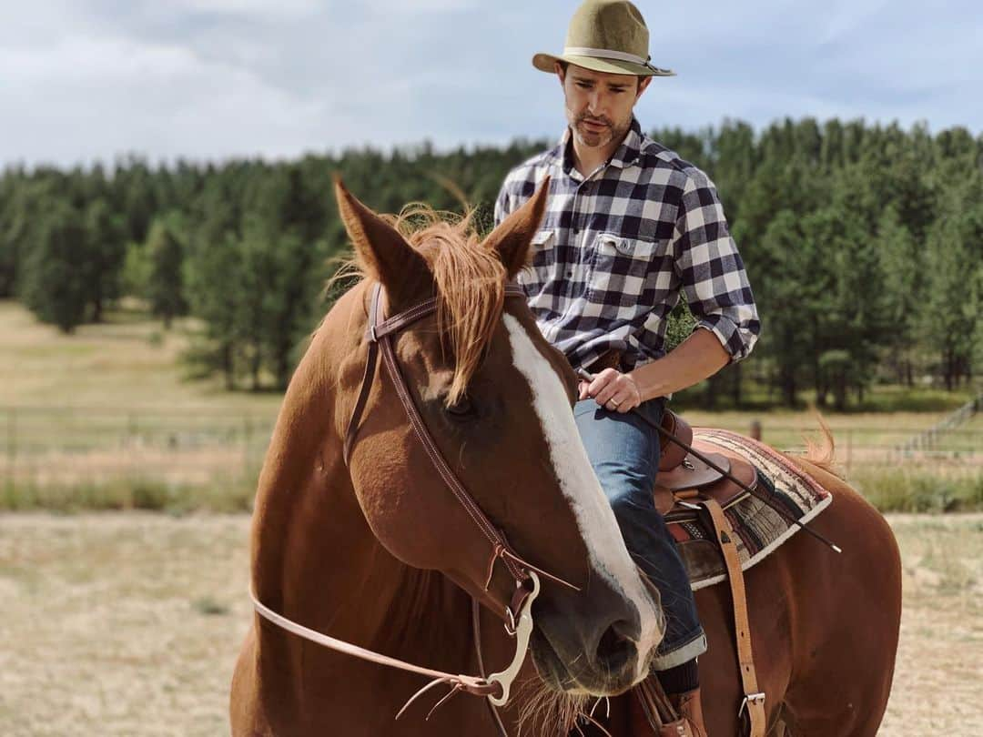
[(901, 604), (896, 540), (856, 491), (795, 460), (833, 491), (833, 503), (813, 526), (843, 552), (825, 552), (801, 534), (778, 551), (796, 572), (794, 680), (784, 695), (792, 734), (873, 737), (895, 669)]

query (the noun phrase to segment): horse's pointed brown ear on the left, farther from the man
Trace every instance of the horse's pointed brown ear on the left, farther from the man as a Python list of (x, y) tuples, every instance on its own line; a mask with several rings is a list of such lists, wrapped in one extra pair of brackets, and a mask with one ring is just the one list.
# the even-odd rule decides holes
[(433, 290), (434, 277), (423, 256), (399, 231), (355, 198), (337, 175), (334, 196), (359, 261), (385, 287), (390, 305), (406, 304)]

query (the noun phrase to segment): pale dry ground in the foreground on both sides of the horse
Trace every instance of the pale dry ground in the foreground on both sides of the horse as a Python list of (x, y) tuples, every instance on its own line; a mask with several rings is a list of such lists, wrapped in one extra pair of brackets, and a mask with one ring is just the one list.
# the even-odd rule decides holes
[[(981, 735), (983, 515), (890, 519), (905, 605), (880, 734)], [(0, 735), (228, 734), (248, 528), (245, 516), (0, 516)]]

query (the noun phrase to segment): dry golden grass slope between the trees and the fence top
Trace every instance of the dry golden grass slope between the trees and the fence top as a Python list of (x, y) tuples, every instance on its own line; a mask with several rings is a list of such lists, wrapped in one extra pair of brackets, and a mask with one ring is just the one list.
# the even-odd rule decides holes
[[(226, 392), (217, 381), (185, 381), (177, 358), (188, 345), (188, 320), (177, 320), (170, 331), (158, 321), (148, 320), (144, 312), (107, 312), (107, 321), (82, 325), (71, 336), (50, 325), (38, 323), (16, 302), (0, 300), (0, 340), (4, 360), (0, 363), (0, 406), (142, 408), (173, 412), (209, 410), (271, 418), (279, 406), (273, 393)], [(700, 387), (689, 390), (698, 393)], [(685, 404), (687, 392), (680, 392)], [(749, 390), (752, 399), (760, 399)], [(895, 386), (875, 387), (869, 405), (877, 412), (830, 413), (827, 421), (834, 429), (880, 428), (892, 435), (917, 431), (934, 424), (945, 414), (973, 396), (972, 390), (946, 392), (923, 387), (915, 390)], [(890, 425), (884, 413), (892, 411)], [(746, 430), (760, 412), (705, 413), (687, 410), (694, 424), (713, 422), (720, 426)], [(773, 442), (785, 435), (798, 442), (793, 431), (813, 426), (810, 412), (769, 411), (765, 424), (775, 432)], [(983, 427), (983, 423), (979, 425)], [(977, 427), (977, 429), (979, 429)]]

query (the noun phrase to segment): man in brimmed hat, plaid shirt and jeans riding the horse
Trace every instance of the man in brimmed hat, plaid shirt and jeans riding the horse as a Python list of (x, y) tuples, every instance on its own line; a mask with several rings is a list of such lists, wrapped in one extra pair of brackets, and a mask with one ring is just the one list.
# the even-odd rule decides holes
[[(652, 78), (673, 74), (649, 63), (648, 47), (634, 5), (587, 0), (564, 52), (533, 57), (559, 79), (568, 127), (557, 146), (508, 174), (495, 223), (550, 176), (519, 281), (550, 343), (594, 374), (580, 384), (576, 422), (628, 550), (662, 595), (666, 632), (653, 670), (692, 733), (705, 735), (696, 657), (706, 637), (652, 496), (659, 436), (629, 411), (658, 424), (672, 392), (746, 357), (760, 323), (713, 183), (644, 136), (633, 115)], [(666, 355), (680, 293), (698, 323)]]

